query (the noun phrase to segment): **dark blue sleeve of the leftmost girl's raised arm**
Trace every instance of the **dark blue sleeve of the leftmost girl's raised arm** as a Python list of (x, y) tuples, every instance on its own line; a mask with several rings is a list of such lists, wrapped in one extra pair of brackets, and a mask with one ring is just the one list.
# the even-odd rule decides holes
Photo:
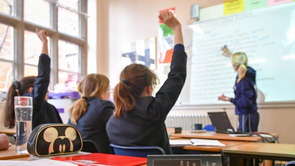
[[(34, 105), (42, 104), (48, 90), (50, 79), (50, 58), (46, 54), (41, 54), (38, 63), (38, 76), (34, 83), (34, 90), (31, 93)], [(37, 106), (37, 105), (35, 105)]]

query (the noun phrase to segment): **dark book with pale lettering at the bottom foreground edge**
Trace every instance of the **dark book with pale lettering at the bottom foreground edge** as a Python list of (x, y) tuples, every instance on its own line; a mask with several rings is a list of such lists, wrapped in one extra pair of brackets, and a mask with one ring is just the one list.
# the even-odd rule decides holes
[(148, 155), (147, 166), (222, 166), (221, 155)]

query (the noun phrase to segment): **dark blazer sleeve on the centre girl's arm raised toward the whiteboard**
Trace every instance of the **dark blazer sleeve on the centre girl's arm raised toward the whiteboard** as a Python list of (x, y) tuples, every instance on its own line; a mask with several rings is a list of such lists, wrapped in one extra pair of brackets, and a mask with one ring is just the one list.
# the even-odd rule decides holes
[(173, 51), (168, 78), (156, 93), (152, 107), (148, 111), (154, 121), (164, 122), (177, 101), (186, 79), (186, 59), (183, 50)]

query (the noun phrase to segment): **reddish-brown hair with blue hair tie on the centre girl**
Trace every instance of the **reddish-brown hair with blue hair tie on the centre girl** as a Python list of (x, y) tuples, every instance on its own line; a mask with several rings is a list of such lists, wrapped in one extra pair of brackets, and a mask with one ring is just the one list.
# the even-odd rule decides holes
[(142, 64), (126, 66), (120, 75), (120, 82), (114, 89), (114, 101), (116, 109), (114, 116), (119, 118), (127, 110), (135, 107), (135, 99), (140, 98), (147, 86), (157, 83), (157, 76), (148, 67)]

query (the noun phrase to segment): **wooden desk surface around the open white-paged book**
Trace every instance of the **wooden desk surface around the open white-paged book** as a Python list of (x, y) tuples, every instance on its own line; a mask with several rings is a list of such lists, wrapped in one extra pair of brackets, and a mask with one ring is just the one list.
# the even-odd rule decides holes
[(219, 140), (219, 142), (225, 144), (225, 146), (193, 146), (193, 145), (186, 145), (183, 147), (175, 147), (181, 148), (185, 150), (195, 150), (195, 151), (214, 151), (214, 152), (222, 152), (224, 148), (230, 148), (232, 146), (246, 144), (248, 142), (245, 141), (227, 141), (227, 140)]

